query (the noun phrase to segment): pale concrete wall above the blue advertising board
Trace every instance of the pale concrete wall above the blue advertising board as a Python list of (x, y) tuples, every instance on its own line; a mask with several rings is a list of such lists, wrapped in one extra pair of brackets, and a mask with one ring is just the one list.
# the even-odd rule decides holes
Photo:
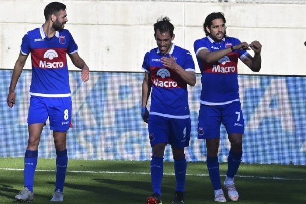
[[(0, 68), (12, 69), (21, 39), (44, 23), (50, 1), (0, 0)], [(152, 24), (162, 15), (175, 26), (175, 44), (191, 51), (204, 36), (211, 12), (225, 13), (227, 34), (262, 43), (260, 74), (306, 75), (306, 4), (245, 4), (151, 1), (62, 1), (79, 54), (95, 71), (142, 71), (147, 50), (156, 46)], [(250, 52), (253, 54), (252, 52)], [(196, 62), (197, 65), (197, 62)], [(69, 61), (69, 69), (77, 70)], [(239, 73), (252, 73), (242, 63)], [(197, 72), (199, 72), (198, 67)], [(28, 59), (25, 69), (31, 69)]]

